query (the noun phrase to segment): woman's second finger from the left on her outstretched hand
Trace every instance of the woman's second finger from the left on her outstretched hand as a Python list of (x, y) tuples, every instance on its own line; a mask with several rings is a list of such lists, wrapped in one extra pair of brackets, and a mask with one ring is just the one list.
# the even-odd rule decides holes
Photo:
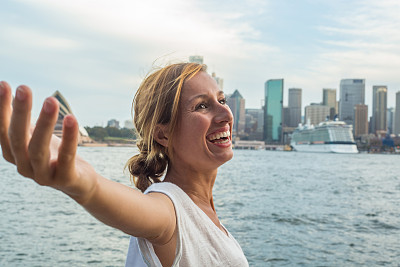
[(27, 86), (19, 86), (13, 101), (13, 112), (8, 129), (8, 137), (18, 172), (26, 177), (32, 177), (33, 174), (28, 156), (31, 109), (31, 90)]

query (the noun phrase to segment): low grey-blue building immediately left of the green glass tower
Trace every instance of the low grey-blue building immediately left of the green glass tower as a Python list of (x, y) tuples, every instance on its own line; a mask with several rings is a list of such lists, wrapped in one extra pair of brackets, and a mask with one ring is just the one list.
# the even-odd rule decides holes
[(246, 109), (245, 132), (249, 140), (263, 140), (264, 111), (262, 109)]

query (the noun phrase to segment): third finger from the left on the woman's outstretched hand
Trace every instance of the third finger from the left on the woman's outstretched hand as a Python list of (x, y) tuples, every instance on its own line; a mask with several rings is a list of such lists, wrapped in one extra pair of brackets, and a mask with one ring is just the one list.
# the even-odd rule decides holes
[(50, 140), (57, 117), (58, 101), (49, 97), (43, 103), (28, 146), (35, 181), (42, 185), (50, 182)]

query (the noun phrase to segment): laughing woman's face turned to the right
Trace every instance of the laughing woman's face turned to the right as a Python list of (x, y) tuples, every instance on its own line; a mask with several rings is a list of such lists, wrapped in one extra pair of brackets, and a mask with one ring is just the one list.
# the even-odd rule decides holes
[(224, 93), (206, 72), (186, 81), (173, 136), (173, 164), (216, 169), (233, 156), (233, 115)]

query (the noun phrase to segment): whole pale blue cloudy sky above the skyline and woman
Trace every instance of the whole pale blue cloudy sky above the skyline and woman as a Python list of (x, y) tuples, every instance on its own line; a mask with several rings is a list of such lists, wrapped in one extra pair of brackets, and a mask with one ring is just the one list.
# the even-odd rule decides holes
[[(33, 119), (59, 90), (82, 126), (130, 120), (132, 98), (154, 66), (201, 55), (223, 90), (261, 108), (264, 83), (322, 101), (341, 79), (400, 91), (398, 0), (2, 0), (0, 80), (29, 85)], [(303, 111), (304, 112), (304, 111)], [(371, 114), (371, 108), (370, 108)]]

